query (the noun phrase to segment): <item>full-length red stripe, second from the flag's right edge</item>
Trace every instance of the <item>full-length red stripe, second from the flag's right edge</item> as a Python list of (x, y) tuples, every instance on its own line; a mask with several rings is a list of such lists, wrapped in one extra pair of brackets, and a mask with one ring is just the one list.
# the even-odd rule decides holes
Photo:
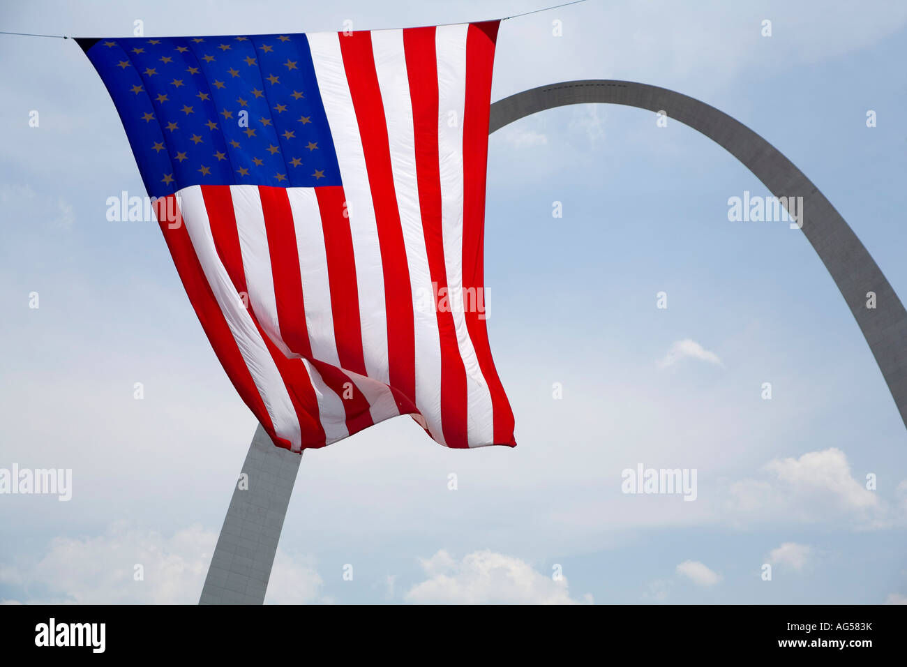
[[(441, 230), (441, 172), (438, 155), (438, 65), (434, 48), (434, 27), (406, 28), (403, 31), (406, 72), (413, 104), (415, 173), (419, 187), (419, 209), (428, 254), (428, 270), (437, 292), (446, 293), (444, 235)], [(466, 368), (457, 345), (453, 313), (437, 308), (435, 313), (441, 342), (441, 427), (449, 447), (467, 447)]]

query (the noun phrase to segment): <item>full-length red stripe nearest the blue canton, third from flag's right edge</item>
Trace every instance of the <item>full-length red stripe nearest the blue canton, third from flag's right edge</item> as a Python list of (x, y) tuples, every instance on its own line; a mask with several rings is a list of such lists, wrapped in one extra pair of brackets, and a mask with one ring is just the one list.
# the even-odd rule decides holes
[[(390, 387), (396, 389), (401, 414), (415, 412), (415, 323), (413, 291), (400, 211), (397, 207), (385, 107), (375, 71), (372, 34), (340, 36), (346, 81), (362, 138), (368, 184), (375, 207), (375, 222), (385, 278), (387, 360)], [(401, 405), (400, 395), (405, 397)]]

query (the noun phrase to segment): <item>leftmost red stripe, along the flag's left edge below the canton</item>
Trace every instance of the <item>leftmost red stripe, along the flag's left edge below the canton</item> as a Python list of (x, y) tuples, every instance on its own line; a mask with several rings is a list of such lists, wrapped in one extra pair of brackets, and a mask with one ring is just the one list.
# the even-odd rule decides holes
[(204, 329), (205, 335), (210, 341), (211, 348), (214, 348), (214, 354), (217, 355), (220, 365), (227, 371), (227, 377), (239, 393), (249, 409), (252, 411), (261, 426), (268, 432), (268, 436), (275, 445), (290, 448), (290, 443), (274, 432), (274, 425), (268, 415), (268, 409), (265, 407), (261, 395), (258, 394), (258, 387), (255, 386), (255, 380), (246, 366), (242, 354), (233, 334), (230, 332), (227, 320), (224, 319), (220, 311), (217, 299), (211, 291), (205, 273), (201, 270), (199, 258), (192, 247), (192, 241), (189, 237), (189, 231), (180, 221), (177, 226), (175, 221), (168, 220), (167, 211), (179, 213), (176, 195), (168, 195), (166, 198), (159, 199), (155, 202), (155, 214), (160, 221), (161, 231), (167, 247), (170, 249), (173, 264), (176, 266), (177, 273), (180, 274), (182, 286), (186, 289), (192, 308), (198, 316), (201, 328)]

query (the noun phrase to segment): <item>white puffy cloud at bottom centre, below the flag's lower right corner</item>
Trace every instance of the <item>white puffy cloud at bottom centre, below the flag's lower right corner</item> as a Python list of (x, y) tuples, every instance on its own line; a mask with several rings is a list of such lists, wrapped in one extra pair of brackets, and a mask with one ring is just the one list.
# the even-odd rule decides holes
[[(577, 604), (567, 579), (555, 581), (519, 558), (477, 551), (456, 561), (443, 549), (420, 559), (427, 579), (404, 596), (409, 603), (440, 604)], [(591, 603), (587, 594), (583, 602)]]

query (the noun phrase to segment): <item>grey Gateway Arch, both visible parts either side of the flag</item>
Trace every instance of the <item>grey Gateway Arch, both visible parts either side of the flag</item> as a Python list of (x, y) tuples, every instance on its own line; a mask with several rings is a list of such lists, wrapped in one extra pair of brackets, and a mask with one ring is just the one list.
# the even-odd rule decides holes
[[(907, 311), (882, 270), (824, 194), (793, 162), (743, 123), (707, 103), (665, 88), (590, 79), (552, 83), (492, 104), (488, 132), (566, 104), (608, 103), (664, 112), (722, 146), (775, 197), (803, 197), (803, 233), (841, 290), (907, 426)], [(786, 201), (786, 200), (782, 200)], [(876, 308), (866, 307), (868, 293)], [(274, 446), (258, 427), (211, 557), (200, 604), (261, 604), (302, 456)]]

